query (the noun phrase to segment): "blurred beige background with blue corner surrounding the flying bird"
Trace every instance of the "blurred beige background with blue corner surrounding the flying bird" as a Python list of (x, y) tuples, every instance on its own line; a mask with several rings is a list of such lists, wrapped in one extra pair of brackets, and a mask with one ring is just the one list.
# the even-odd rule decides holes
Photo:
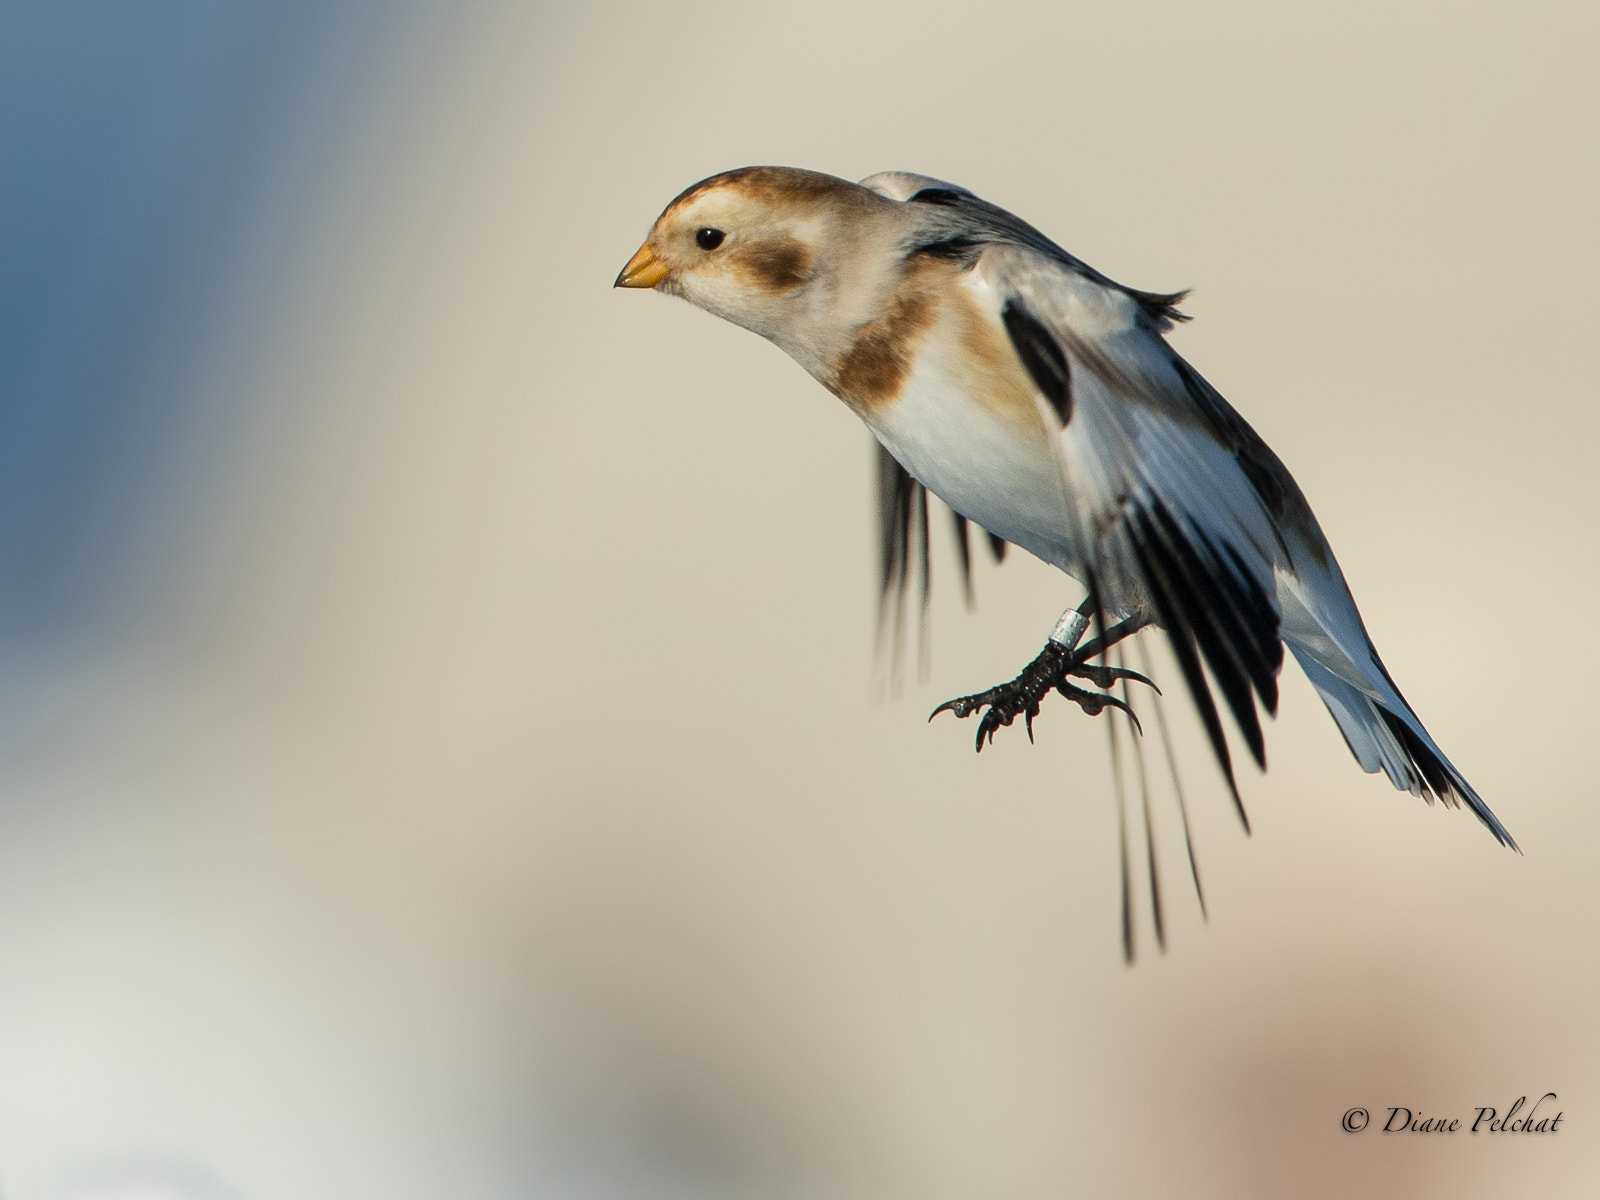
[[(6, 3), (0, 1195), (1592, 1194), (1597, 11)], [(894, 698), (859, 424), (611, 290), (758, 162), (1194, 286), (1526, 854), (1288, 667), (1125, 968), (1104, 723), (923, 720), (1077, 587)]]

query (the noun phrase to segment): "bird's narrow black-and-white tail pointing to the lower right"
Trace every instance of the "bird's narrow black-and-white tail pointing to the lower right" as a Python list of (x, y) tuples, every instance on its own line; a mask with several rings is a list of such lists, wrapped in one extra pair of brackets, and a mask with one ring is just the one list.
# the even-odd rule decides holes
[[(1381, 770), (1395, 787), (1411, 795), (1421, 795), (1429, 803), (1434, 803), (1435, 795), (1453, 806), (1466, 802), (1467, 808), (1488, 826), (1501, 845), (1517, 850), (1517, 842), (1483, 803), (1483, 797), (1472, 789), (1472, 784), (1462, 778), (1461, 771), (1422, 728), (1422, 722), (1406, 704), (1374, 650), (1370, 654), (1371, 669), (1363, 669), (1366, 664), (1357, 664), (1339, 654), (1346, 661), (1336, 666), (1346, 669), (1334, 674), (1330, 664), (1322, 661), (1328, 653), (1328, 645), (1322, 638), (1317, 638), (1320, 645), (1315, 648), (1296, 640), (1288, 632), (1285, 632), (1283, 640), (1312, 686), (1317, 688), (1322, 702), (1328, 706), (1328, 712), (1333, 714), (1350, 754), (1355, 755), (1355, 762), (1362, 765), (1363, 771), (1376, 773)], [(1371, 650), (1370, 640), (1366, 645)], [(1323, 651), (1322, 656), (1318, 656), (1318, 650)], [(1355, 686), (1349, 682), (1350, 667), (1358, 672), (1365, 686)]]

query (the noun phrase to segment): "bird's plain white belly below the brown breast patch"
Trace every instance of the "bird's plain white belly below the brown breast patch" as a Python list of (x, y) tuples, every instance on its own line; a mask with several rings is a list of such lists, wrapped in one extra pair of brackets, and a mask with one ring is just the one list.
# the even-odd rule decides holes
[(974, 400), (939, 363), (917, 365), (899, 397), (862, 413), (883, 448), (968, 520), (1078, 574), (1059, 453), (1038, 403)]

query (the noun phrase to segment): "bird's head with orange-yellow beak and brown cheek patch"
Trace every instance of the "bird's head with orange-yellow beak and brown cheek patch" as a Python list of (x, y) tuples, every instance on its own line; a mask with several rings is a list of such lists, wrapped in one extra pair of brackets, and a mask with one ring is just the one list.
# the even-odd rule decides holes
[(715, 174), (667, 205), (616, 286), (682, 296), (805, 363), (840, 328), (840, 283), (870, 269), (859, 251), (894, 206), (816, 171)]

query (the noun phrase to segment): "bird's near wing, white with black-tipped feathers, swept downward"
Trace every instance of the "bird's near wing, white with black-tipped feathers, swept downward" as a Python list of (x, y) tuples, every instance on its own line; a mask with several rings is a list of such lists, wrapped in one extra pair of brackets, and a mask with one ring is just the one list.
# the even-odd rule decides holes
[(1277, 710), (1283, 643), (1275, 570), (1290, 560), (1280, 526), (1286, 472), (1166, 344), (1178, 296), (1112, 283), (1010, 221), (1032, 237), (995, 227), (973, 270), (1061, 419), (1085, 584), (1107, 608), (1144, 605), (1166, 630), (1237, 800), (1200, 664), (1264, 766), (1256, 699)]

